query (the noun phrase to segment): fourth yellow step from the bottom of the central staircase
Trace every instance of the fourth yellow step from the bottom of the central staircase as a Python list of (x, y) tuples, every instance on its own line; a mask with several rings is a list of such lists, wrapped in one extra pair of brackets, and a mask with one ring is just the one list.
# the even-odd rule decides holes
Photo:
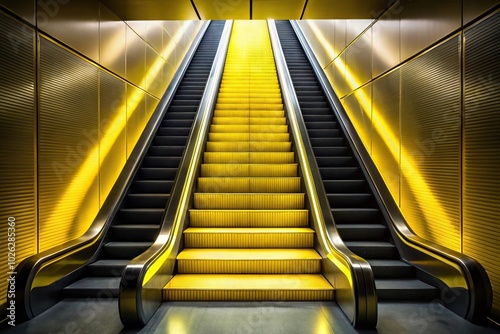
[(308, 227), (308, 210), (189, 210), (191, 227)]

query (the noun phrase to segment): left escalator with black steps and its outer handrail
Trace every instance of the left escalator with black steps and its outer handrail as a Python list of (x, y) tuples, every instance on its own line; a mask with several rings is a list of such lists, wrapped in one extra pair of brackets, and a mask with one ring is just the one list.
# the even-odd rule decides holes
[(224, 24), (210, 22), (197, 37), (199, 44), (193, 43), (191, 60), (187, 56), (181, 64), (185, 72), (173, 80), (177, 88), (171, 85), (166, 102), (160, 102), (166, 110), (157, 108), (151, 117), (87, 234), (21, 263), (19, 281), (27, 295), (19, 299), (26, 303), (23, 318), (38, 315), (61, 298), (119, 296), (125, 267), (159, 234)]

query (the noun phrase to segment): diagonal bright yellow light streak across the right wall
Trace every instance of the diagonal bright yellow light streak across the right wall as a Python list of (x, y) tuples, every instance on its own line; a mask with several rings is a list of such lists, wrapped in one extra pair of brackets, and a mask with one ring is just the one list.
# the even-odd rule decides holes
[[(329, 44), (329, 41), (325, 38), (317, 26), (312, 25), (311, 28), (316, 38), (322, 44)], [(339, 71), (345, 71), (346, 82), (351, 90), (361, 86), (362, 83), (356, 77), (355, 72), (351, 70), (340, 57), (338, 57), (333, 64)], [(375, 129), (375, 131), (380, 135), (380, 138), (383, 139), (384, 144), (389, 149), (389, 152), (391, 152), (394, 160), (400, 161), (400, 144), (398, 136), (392, 131), (391, 126), (385, 121), (383, 113), (375, 107), (372, 108), (371, 98), (362, 90), (357, 91), (356, 97), (363, 112), (372, 119), (373, 129)], [(369, 114), (370, 110), (373, 117)], [(360, 131), (361, 129), (357, 130)], [(407, 175), (411, 175), (411, 177), (406, 178), (406, 181), (408, 182), (412, 194), (415, 196), (419, 206), (422, 208), (421, 212), (425, 216), (426, 221), (439, 221), (440, 223), (447, 223), (450, 230), (453, 230), (448, 214), (440, 204), (439, 198), (434, 195), (432, 189), (420, 172), (418, 162), (414, 160), (413, 154), (408, 152), (408, 150), (402, 145), (400, 164), (402, 165), (402, 170), (406, 171)], [(396, 194), (392, 195), (396, 196)], [(432, 238), (436, 237), (435, 233), (433, 233), (433, 229), (429, 229), (429, 232)]]

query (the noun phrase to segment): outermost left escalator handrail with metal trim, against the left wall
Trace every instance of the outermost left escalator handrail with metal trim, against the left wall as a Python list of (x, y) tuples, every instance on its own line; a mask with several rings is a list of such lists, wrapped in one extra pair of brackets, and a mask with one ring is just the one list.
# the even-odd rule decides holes
[(113, 217), (149, 148), (156, 129), (161, 124), (164, 113), (168, 109), (208, 25), (209, 22), (205, 23), (188, 50), (118, 180), (87, 232), (76, 240), (30, 256), (17, 266), (17, 319), (19, 321), (31, 319), (57, 303), (60, 291), (78, 277), (85, 265), (95, 257), (96, 252), (101, 248)]

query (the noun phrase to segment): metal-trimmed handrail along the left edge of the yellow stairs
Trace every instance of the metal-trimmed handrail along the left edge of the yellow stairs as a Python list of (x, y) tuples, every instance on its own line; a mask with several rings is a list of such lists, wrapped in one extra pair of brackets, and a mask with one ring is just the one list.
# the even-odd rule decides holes
[(119, 310), (125, 326), (143, 326), (160, 306), (163, 287), (172, 278), (182, 243), (192, 193), (210, 129), (222, 79), (232, 21), (227, 21), (198, 108), (193, 130), (177, 172), (167, 211), (156, 242), (125, 268), (120, 282)]

